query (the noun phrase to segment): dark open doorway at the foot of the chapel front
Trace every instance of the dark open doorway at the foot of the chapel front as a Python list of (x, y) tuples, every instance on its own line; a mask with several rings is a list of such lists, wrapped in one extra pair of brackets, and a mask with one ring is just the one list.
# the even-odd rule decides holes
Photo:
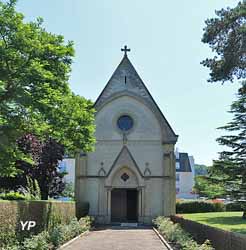
[(111, 191), (111, 222), (138, 222), (136, 188), (114, 188)]

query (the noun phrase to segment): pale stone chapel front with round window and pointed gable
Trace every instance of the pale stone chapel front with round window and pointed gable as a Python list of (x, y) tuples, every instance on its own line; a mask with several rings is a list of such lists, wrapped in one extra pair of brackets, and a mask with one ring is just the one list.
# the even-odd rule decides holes
[[(99, 223), (110, 223), (112, 207), (117, 206), (111, 202), (112, 191), (137, 190), (138, 222), (151, 223), (158, 215), (175, 214), (177, 135), (127, 55), (95, 102), (95, 108), (95, 151), (80, 153), (76, 158), (77, 207), (89, 202), (90, 215)], [(123, 126), (132, 126), (126, 130), (118, 125), (124, 116), (131, 118), (123, 121)], [(134, 208), (128, 207), (126, 213), (132, 213)]]

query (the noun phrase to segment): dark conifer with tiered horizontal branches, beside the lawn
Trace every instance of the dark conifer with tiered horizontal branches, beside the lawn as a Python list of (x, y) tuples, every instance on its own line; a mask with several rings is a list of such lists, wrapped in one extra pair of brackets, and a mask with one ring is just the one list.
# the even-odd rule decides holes
[[(223, 183), (233, 199), (246, 199), (246, 82), (238, 90), (238, 99), (231, 105), (233, 120), (220, 129), (229, 134), (217, 139), (229, 149), (220, 153), (219, 160), (211, 167), (210, 180)], [(246, 218), (246, 202), (244, 215)]]

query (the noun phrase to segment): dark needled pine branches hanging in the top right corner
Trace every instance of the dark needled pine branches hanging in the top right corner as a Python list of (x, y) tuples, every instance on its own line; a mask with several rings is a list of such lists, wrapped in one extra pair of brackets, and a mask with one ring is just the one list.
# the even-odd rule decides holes
[(246, 1), (235, 8), (215, 11), (217, 17), (205, 21), (202, 42), (207, 43), (213, 58), (201, 63), (211, 71), (210, 82), (246, 78)]

